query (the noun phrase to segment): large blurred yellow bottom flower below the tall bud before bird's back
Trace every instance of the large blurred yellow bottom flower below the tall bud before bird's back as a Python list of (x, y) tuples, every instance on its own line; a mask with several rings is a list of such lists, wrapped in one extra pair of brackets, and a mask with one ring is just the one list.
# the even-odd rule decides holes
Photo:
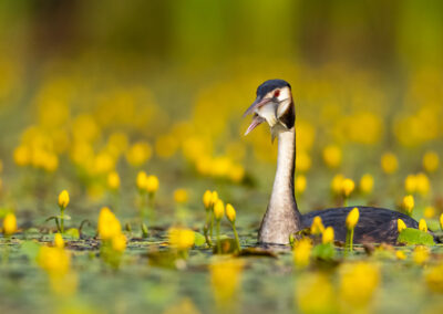
[(380, 270), (374, 264), (368, 262), (343, 264), (340, 270), (339, 294), (343, 306), (367, 307), (379, 282)]

